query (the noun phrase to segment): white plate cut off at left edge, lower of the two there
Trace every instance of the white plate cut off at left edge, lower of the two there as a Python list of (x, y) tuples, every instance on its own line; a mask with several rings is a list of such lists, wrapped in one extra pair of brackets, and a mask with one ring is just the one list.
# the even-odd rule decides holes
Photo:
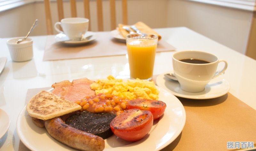
[(11, 124), (10, 117), (3, 109), (0, 109), (0, 139), (8, 131), (10, 124)]

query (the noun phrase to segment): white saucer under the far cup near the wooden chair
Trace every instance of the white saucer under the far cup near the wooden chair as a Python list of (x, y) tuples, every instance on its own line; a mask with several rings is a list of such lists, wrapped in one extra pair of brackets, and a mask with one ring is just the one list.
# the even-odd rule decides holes
[(85, 43), (94, 41), (97, 38), (96, 34), (94, 32), (90, 32), (90, 31), (86, 32), (84, 34), (84, 37), (87, 37), (87, 36), (90, 36), (90, 35), (92, 35), (92, 37), (89, 40), (71, 41), (71, 40), (68, 39), (67, 35), (60, 33), (60, 34), (57, 34), (55, 36), (55, 39), (56, 39), (57, 42), (61, 42), (61, 43), (66, 44), (66, 45), (81, 45), (81, 44), (85, 44)]

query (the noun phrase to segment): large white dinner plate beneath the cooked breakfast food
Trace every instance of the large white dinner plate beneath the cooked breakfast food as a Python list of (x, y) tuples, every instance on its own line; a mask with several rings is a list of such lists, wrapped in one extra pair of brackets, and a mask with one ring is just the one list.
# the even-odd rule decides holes
[[(105, 139), (104, 151), (158, 151), (180, 135), (186, 121), (185, 109), (174, 95), (161, 87), (157, 88), (160, 91), (159, 100), (166, 103), (166, 109), (164, 115), (154, 121), (149, 134), (142, 140), (133, 143), (112, 135)], [(16, 128), (20, 140), (32, 151), (76, 150), (52, 138), (45, 128), (37, 127), (28, 115), (26, 107), (21, 110), (18, 116)]]

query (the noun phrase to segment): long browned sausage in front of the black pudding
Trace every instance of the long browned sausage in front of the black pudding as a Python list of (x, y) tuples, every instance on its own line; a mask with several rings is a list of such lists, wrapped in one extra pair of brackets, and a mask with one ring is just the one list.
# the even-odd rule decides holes
[(71, 127), (60, 117), (46, 120), (44, 126), (53, 138), (70, 147), (84, 151), (102, 151), (105, 148), (101, 137)]

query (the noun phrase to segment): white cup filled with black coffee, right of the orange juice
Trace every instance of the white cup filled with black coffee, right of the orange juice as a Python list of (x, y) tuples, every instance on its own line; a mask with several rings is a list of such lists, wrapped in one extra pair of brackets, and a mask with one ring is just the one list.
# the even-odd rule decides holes
[[(184, 59), (202, 60), (208, 63), (187, 63)], [(183, 60), (183, 61), (180, 61)], [(224, 67), (217, 71), (218, 64), (224, 62)], [(212, 78), (223, 74), (228, 67), (225, 60), (219, 60), (216, 55), (204, 51), (186, 50), (172, 55), (173, 71), (180, 83), (181, 89), (188, 92), (201, 92)]]

